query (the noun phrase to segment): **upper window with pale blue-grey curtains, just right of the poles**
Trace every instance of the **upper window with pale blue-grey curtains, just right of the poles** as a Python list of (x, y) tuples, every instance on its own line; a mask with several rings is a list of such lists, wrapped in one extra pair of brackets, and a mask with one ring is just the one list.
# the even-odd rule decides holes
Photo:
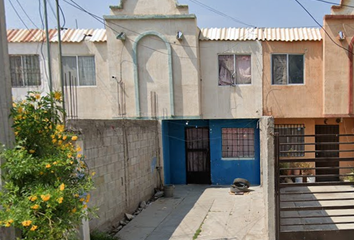
[(94, 56), (63, 57), (65, 86), (96, 85)]

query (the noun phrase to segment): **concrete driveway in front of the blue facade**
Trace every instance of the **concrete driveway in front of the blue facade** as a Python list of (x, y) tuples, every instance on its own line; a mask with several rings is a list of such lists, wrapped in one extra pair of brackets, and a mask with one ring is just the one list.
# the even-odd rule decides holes
[(173, 198), (160, 198), (117, 236), (121, 240), (267, 239), (263, 188), (230, 195), (229, 187), (176, 186)]

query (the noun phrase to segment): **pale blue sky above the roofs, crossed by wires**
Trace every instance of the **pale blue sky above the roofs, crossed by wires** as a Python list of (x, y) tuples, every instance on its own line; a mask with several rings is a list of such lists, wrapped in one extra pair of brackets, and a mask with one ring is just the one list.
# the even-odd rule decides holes
[[(104, 28), (103, 23), (88, 14), (73, 8), (59, 0), (65, 16), (66, 28)], [(102, 17), (110, 12), (110, 5), (117, 5), (119, 0), (73, 0), (89, 12)], [(129, 1), (129, 0), (127, 0)], [(161, 0), (163, 1), (163, 0)], [(199, 2), (224, 13), (225, 17), (196, 4), (193, 0), (179, 0), (180, 4), (189, 5), (189, 12), (196, 14), (198, 27), (318, 27), (316, 22), (296, 3), (295, 0), (198, 0)], [(322, 24), (323, 16), (330, 13), (331, 4), (319, 0), (298, 0)], [(327, 0), (339, 3), (340, 0)], [(4, 0), (7, 28), (43, 28), (40, 8), (43, 0)], [(13, 7), (12, 7), (12, 5)], [(49, 25), (56, 26), (55, 0), (48, 0)], [(22, 18), (21, 22), (18, 15)], [(61, 19), (64, 23), (63, 18)], [(243, 22), (244, 24), (240, 23)]]

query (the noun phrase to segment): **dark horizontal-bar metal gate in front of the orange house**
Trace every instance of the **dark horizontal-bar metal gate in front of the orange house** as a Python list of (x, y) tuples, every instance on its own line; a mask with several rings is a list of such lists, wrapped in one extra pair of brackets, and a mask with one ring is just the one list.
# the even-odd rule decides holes
[(338, 132), (275, 134), (277, 240), (354, 239), (354, 134)]

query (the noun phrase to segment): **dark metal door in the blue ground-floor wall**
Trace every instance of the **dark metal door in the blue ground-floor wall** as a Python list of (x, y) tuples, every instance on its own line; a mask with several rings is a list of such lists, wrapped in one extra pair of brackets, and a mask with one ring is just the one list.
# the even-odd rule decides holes
[(210, 184), (209, 128), (186, 128), (187, 183)]

